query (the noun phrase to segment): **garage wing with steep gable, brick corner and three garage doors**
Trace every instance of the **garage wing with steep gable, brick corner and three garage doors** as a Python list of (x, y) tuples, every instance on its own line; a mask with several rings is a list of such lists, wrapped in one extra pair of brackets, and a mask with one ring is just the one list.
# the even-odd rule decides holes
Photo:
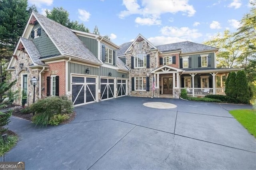
[(32, 12), (8, 65), (15, 104), (26, 104), (46, 96), (68, 95), (73, 104), (84, 105), (127, 95), (129, 69), (117, 57), (120, 47), (100, 35), (71, 30)]

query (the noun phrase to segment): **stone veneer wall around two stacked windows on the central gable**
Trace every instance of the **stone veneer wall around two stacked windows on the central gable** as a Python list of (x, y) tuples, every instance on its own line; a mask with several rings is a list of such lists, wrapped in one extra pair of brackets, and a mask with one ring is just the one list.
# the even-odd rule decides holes
[[(150, 71), (156, 68), (157, 61), (156, 61), (156, 52), (157, 50), (150, 50), (150, 45), (146, 41), (142, 41), (142, 49), (139, 49), (139, 42), (134, 43), (133, 48), (130, 50), (130, 54), (126, 55), (126, 65), (131, 69), (131, 56), (134, 56), (136, 54), (144, 53), (144, 54), (150, 54), (150, 68), (134, 68), (131, 69), (130, 77), (146, 77), (147, 74), (150, 76), (150, 88), (149, 91), (132, 91), (130, 87), (130, 83), (128, 82), (128, 94), (130, 91), (131, 96), (136, 97), (152, 97), (152, 75)], [(134, 65), (135, 66), (135, 65)], [(128, 81), (131, 80), (131, 78), (128, 77)], [(155, 92), (156, 93), (156, 92)]]

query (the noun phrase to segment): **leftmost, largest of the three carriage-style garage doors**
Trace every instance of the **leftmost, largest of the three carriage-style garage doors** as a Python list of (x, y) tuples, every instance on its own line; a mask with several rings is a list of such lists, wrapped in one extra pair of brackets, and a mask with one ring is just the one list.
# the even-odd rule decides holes
[(96, 102), (97, 78), (89, 76), (72, 76), (73, 105)]

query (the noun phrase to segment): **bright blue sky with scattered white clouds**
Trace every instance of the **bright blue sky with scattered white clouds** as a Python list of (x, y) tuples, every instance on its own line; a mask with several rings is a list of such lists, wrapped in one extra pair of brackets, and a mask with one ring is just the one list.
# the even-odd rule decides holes
[(98, 26), (116, 45), (141, 34), (154, 45), (208, 41), (218, 32), (236, 32), (251, 0), (28, 0), (38, 12), (63, 7), (70, 20), (90, 32)]

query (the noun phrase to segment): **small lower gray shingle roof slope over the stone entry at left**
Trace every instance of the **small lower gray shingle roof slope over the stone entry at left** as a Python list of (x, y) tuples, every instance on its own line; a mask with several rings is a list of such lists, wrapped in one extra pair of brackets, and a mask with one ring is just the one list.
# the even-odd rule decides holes
[(20, 41), (22, 42), (25, 49), (27, 50), (29, 57), (35, 64), (47, 65), (44, 62), (40, 61), (39, 58), (42, 57), (42, 55), (40, 54), (40, 52), (38, 51), (38, 49), (36, 48), (36, 45), (32, 40), (28, 40), (26, 38), (20, 38)]

